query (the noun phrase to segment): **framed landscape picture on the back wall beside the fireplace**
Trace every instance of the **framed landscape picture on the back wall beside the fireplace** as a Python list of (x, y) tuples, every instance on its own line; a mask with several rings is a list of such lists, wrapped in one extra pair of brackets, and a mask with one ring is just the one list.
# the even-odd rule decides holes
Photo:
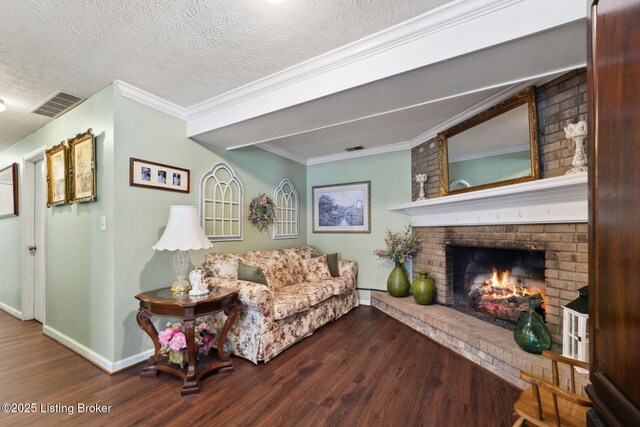
[(312, 190), (314, 233), (371, 233), (371, 181)]

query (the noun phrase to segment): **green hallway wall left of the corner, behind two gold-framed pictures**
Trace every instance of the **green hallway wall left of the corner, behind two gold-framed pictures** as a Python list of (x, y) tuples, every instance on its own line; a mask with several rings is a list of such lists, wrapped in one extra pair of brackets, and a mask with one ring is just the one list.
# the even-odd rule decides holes
[[(113, 88), (103, 89), (1, 152), (0, 166), (21, 163), (35, 150), (88, 128), (96, 135), (98, 200), (47, 209), (45, 316), (51, 328), (112, 359), (113, 233), (100, 231), (100, 217), (113, 210)], [(20, 186), (21, 206), (30, 194)], [(0, 301), (20, 311), (21, 263), (29, 256), (21, 242), (23, 218), (0, 220)]]

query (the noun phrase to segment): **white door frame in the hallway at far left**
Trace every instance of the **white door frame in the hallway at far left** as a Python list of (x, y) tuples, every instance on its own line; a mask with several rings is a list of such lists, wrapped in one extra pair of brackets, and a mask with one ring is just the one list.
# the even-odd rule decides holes
[[(22, 208), (20, 209), (20, 216), (22, 216), (22, 245), (20, 246), (22, 258), (22, 320), (34, 318), (35, 283), (30, 278), (33, 278), (33, 272), (35, 271), (35, 257), (31, 256), (27, 247), (33, 244), (35, 238), (35, 164), (40, 160), (46, 160), (45, 149), (46, 146), (42, 146), (24, 156), (22, 158), (22, 167), (20, 168), (20, 193), (22, 196), (20, 200)], [(43, 221), (45, 221), (44, 216)], [(46, 223), (43, 229), (46, 231)], [(42, 238), (46, 242), (46, 232)], [(38, 251), (40, 251), (40, 248), (38, 248)], [(45, 260), (47, 259), (46, 244), (42, 248), (42, 256)], [(46, 274), (44, 280), (43, 289), (46, 289)], [(46, 319), (46, 310), (44, 314)]]

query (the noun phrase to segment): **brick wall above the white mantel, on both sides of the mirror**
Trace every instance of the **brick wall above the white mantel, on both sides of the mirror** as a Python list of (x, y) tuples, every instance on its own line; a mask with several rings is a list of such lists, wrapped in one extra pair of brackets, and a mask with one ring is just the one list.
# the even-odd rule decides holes
[[(587, 118), (587, 73), (585, 69), (566, 73), (536, 88), (538, 144), (542, 178), (563, 175), (571, 168), (573, 147), (565, 139), (564, 127)], [(411, 150), (411, 176), (428, 173), (428, 198), (439, 197), (438, 143), (435, 138)], [(412, 200), (419, 186), (412, 180)]]

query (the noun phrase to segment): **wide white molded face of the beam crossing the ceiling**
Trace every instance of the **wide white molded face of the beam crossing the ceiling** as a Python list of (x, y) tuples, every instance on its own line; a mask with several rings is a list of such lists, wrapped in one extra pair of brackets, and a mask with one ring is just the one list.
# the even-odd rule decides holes
[[(542, 17), (540, 10), (553, 14)], [(190, 137), (584, 19), (582, 0), (457, 0), (186, 109)], [(523, 16), (541, 19), (523, 20)], [(544, 19), (542, 19), (544, 18)], [(518, 25), (509, 23), (518, 22)], [(487, 32), (486, 28), (500, 28)], [(455, 46), (447, 43), (456, 37)]]

